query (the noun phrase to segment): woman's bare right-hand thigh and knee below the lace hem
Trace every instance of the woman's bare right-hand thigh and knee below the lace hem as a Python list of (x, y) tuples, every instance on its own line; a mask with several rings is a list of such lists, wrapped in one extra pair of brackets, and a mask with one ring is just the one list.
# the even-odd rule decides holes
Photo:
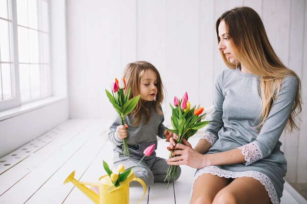
[(271, 204), (271, 199), (264, 185), (254, 178), (234, 179), (220, 190), (212, 204)]

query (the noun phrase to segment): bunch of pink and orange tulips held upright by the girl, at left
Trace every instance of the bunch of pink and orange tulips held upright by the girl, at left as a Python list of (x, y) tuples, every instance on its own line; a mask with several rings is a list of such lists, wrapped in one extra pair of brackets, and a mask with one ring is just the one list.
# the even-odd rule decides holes
[[(137, 105), (140, 95), (137, 95), (131, 99), (130, 97), (130, 88), (128, 91), (124, 93), (124, 90), (126, 89), (126, 81), (125, 79), (121, 79), (120, 81), (115, 78), (115, 82), (111, 86), (112, 94), (105, 90), (107, 97), (109, 98), (109, 101), (112, 103), (113, 107), (115, 108), (116, 112), (119, 115), (119, 118), (121, 120), (121, 125), (125, 124), (125, 116), (128, 115)], [(128, 150), (128, 144), (127, 139), (123, 139), (123, 147), (122, 147), (122, 155), (126, 157), (129, 154)]]

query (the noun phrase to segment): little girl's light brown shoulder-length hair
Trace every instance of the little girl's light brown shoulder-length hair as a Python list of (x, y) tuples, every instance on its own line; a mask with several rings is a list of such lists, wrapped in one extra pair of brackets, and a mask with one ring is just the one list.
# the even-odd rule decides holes
[[(133, 98), (140, 94), (140, 83), (141, 78), (148, 70), (152, 70), (157, 77), (157, 95), (155, 96), (155, 100), (153, 101), (153, 110), (158, 114), (163, 114), (161, 111), (161, 103), (164, 100), (163, 94), (163, 83), (161, 81), (160, 74), (158, 70), (149, 62), (137, 61), (133, 63), (129, 63), (125, 70), (123, 77), (126, 80), (126, 91), (131, 88), (129, 98)], [(142, 99), (139, 100), (135, 109), (133, 110), (133, 116), (135, 120), (133, 125), (138, 125), (140, 123), (141, 117), (145, 116), (144, 123), (147, 123), (151, 117), (150, 108), (152, 107), (150, 102), (144, 101)]]

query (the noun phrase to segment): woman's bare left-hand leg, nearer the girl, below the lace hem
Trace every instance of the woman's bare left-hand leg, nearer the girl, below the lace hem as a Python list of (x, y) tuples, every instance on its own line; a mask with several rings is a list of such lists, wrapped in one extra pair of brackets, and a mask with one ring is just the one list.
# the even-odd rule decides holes
[(193, 184), (190, 204), (211, 204), (216, 194), (232, 179), (212, 174), (202, 174)]

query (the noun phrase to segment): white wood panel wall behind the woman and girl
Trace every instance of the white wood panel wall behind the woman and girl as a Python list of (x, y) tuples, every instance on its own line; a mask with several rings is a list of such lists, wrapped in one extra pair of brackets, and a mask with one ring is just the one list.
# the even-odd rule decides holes
[[(113, 117), (104, 89), (137, 60), (160, 71), (166, 118), (168, 102), (184, 91), (192, 103), (211, 105), (214, 78), (226, 68), (217, 50), (215, 21), (241, 5), (258, 12), (276, 53), (300, 76), (306, 102), (306, 0), (67, 0), (70, 116)], [(304, 104), (301, 131), (281, 137), (287, 181), (307, 182), (306, 133)]]

